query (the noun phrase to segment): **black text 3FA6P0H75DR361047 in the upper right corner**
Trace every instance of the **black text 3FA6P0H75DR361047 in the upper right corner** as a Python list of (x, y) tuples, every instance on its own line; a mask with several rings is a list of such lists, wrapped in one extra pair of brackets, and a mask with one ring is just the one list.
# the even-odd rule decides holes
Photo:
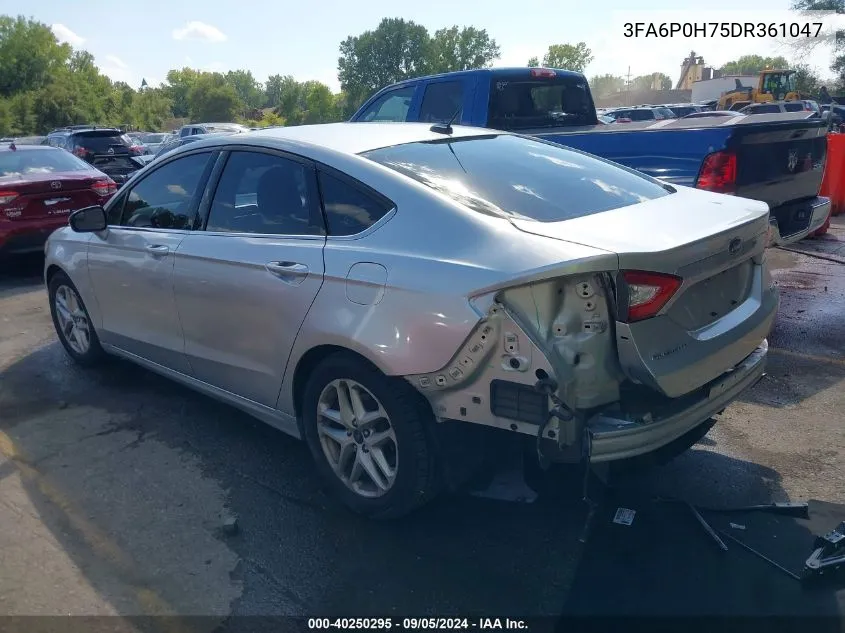
[(807, 37), (822, 34), (822, 22), (626, 22), (625, 37)]

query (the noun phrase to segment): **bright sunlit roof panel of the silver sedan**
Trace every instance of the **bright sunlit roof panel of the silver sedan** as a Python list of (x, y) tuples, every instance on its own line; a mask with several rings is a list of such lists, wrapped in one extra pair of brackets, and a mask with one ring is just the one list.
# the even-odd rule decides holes
[(259, 142), (275, 139), (291, 145), (323, 147), (344, 154), (360, 154), (405, 143), (507, 134), (498, 130), (454, 125), (452, 133), (447, 135), (432, 132), (431, 128), (429, 123), (324, 123), (256, 130), (224, 136), (217, 142), (240, 144), (252, 142), (253, 139)]

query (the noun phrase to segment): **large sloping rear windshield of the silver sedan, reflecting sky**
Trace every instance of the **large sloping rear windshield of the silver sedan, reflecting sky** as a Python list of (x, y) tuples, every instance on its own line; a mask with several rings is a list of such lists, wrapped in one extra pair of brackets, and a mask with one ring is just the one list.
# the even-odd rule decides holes
[(671, 191), (599, 158), (511, 135), (409, 143), (363, 156), (474, 211), (538, 222), (571, 220)]

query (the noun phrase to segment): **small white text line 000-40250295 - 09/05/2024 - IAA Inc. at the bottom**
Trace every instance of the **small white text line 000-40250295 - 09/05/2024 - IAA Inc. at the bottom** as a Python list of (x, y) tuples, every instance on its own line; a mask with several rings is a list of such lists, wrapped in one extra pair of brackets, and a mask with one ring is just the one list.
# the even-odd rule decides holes
[(525, 620), (513, 618), (308, 618), (308, 629), (370, 631), (527, 631)]

